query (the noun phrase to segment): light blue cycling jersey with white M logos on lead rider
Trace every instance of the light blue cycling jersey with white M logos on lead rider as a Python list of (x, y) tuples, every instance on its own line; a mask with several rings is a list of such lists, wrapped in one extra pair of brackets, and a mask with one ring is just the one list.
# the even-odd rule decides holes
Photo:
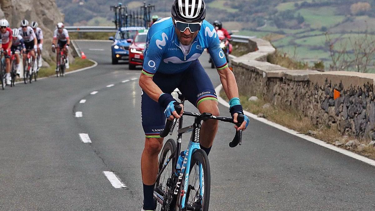
[(148, 30), (142, 73), (153, 76), (156, 72), (163, 74), (183, 72), (202, 55), (206, 48), (217, 69), (228, 67), (225, 54), (220, 48), (219, 37), (210, 23), (203, 21), (189, 54), (184, 56), (172, 17), (163, 18)]

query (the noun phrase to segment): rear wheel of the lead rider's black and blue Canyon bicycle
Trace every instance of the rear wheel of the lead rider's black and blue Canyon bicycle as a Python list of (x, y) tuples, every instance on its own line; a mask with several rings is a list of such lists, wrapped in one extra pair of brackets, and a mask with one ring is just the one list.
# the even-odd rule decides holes
[[(173, 139), (168, 139), (163, 146), (162, 153), (159, 158), (159, 172), (163, 168), (164, 164), (168, 160), (169, 156), (176, 150), (176, 142)], [(159, 179), (156, 180), (155, 191), (164, 198), (164, 203), (157, 203), (156, 211), (172, 211), (169, 207), (173, 198), (174, 184), (171, 182), (171, 176), (175, 169), (175, 158), (173, 157), (164, 171), (160, 175)], [(155, 198), (154, 198), (155, 199)], [(156, 200), (156, 199), (155, 199)]]

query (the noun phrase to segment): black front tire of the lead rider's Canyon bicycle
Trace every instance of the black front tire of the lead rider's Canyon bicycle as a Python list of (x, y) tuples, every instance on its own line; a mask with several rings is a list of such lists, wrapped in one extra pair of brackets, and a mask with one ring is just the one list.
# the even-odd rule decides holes
[[(191, 160), (190, 160), (190, 173), (189, 173), (189, 182), (187, 183), (189, 185), (189, 188), (190, 188), (190, 179), (193, 179), (194, 181), (194, 178), (191, 176), (192, 174), (192, 169), (193, 167), (195, 167), (195, 164), (196, 163), (201, 163), (202, 164), (202, 170), (203, 170), (203, 179), (204, 179), (204, 194), (203, 194), (203, 197), (202, 197), (202, 207), (201, 209), (198, 209), (198, 210), (201, 210), (201, 211), (208, 211), (208, 207), (210, 205), (210, 187), (211, 187), (211, 173), (210, 173), (210, 163), (208, 162), (208, 157), (207, 157), (207, 154), (202, 150), (202, 149), (197, 149), (192, 157), (191, 157)], [(186, 173), (184, 173), (184, 176), (183, 178), (185, 178), (185, 175)], [(184, 184), (185, 181), (182, 181), (181, 184)], [(193, 185), (194, 186), (194, 185)], [(191, 210), (188, 208), (188, 206), (190, 205), (189, 203), (189, 197), (190, 197), (190, 193), (191, 191), (189, 191), (189, 188), (188, 188), (188, 191), (186, 193), (186, 205), (185, 205), (185, 208), (184, 209), (181, 209), (181, 200), (182, 200), (182, 197), (181, 197), (181, 190), (183, 188), (183, 185), (180, 186), (180, 191), (178, 192), (177, 196), (177, 204), (176, 204), (176, 208), (175, 210), (176, 211), (183, 211), (183, 210)], [(190, 193), (189, 193), (190, 192)], [(196, 191), (198, 192), (198, 191)]]

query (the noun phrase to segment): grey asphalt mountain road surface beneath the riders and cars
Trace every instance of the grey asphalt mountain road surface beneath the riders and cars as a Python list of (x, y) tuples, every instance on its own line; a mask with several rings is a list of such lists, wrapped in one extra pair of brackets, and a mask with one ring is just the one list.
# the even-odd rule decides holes
[[(110, 42), (78, 45), (99, 65), (0, 90), (0, 210), (141, 209), (140, 71), (111, 65)], [(207, 61), (203, 55), (218, 85)], [(233, 135), (220, 124), (209, 157), (210, 210), (375, 209), (374, 167), (254, 120), (242, 146), (229, 148)], [(103, 171), (127, 188), (114, 188)]]

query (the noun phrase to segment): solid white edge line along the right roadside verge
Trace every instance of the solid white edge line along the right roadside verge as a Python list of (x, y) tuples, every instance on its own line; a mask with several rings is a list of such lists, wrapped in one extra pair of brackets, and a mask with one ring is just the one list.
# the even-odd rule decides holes
[[(225, 107), (228, 107), (229, 108), (229, 104), (228, 102), (226, 102), (223, 98), (220, 97), (220, 90), (222, 89), (222, 85), (219, 85), (215, 88), (215, 92), (217, 94), (217, 99), (219, 101), (220, 104), (224, 105)], [(375, 166), (375, 160), (372, 160), (370, 158), (366, 158), (362, 155), (359, 155), (359, 154), (356, 154), (354, 152), (351, 152), (351, 151), (348, 151), (346, 149), (342, 149), (342, 148), (339, 148), (337, 146), (333, 146), (333, 145), (330, 145), (329, 143), (326, 143), (322, 140), (319, 140), (319, 139), (315, 139), (314, 137), (311, 137), (311, 136), (307, 136), (305, 134), (301, 134), (295, 130), (291, 130), (287, 127), (284, 127), (282, 125), (279, 125), (279, 124), (276, 124), (275, 122), (271, 122), (267, 119), (264, 119), (264, 118), (260, 118), (258, 117), (257, 115), (253, 114), (253, 113), (250, 113), (250, 112), (247, 112), (247, 111), (243, 111), (243, 113), (245, 113), (246, 116), (248, 116), (249, 118), (252, 118), (252, 119), (255, 119), (257, 121), (260, 121), (260, 122), (263, 122), (264, 124), (267, 124), (267, 125), (270, 125), (272, 127), (275, 127), (275, 128), (278, 128), (279, 130), (282, 130), (282, 131), (285, 131), (287, 133), (290, 133), (294, 136), (297, 136), (297, 137), (300, 137), (302, 139), (305, 139), (309, 142), (312, 142), (312, 143), (315, 143), (317, 145), (320, 145), (320, 146), (323, 146), (325, 148), (328, 148), (328, 149), (331, 149), (333, 151), (336, 151), (336, 152), (339, 152), (341, 154), (344, 154), (344, 155), (347, 155), (351, 158), (354, 158), (354, 159), (357, 159), (357, 160), (360, 160), (362, 162), (365, 162), (371, 166)]]

